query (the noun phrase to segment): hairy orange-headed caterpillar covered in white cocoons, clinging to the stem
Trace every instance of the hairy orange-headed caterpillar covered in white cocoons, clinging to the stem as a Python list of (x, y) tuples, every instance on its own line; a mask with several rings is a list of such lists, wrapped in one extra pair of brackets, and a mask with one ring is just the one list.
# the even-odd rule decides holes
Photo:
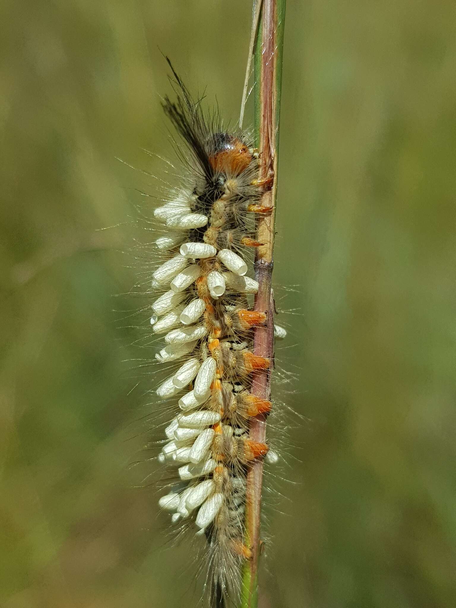
[[(170, 64), (170, 62), (168, 61)], [(250, 462), (277, 455), (249, 438), (249, 420), (271, 410), (251, 392), (254, 371), (271, 361), (252, 352), (253, 328), (272, 322), (272, 310), (252, 310), (258, 283), (251, 278), (255, 216), (267, 181), (258, 179), (258, 153), (246, 132), (226, 131), (218, 112), (204, 116), (171, 66), (176, 102), (163, 107), (182, 137), (182, 187), (154, 210), (161, 235), (159, 291), (150, 323), (164, 334), (155, 355), (168, 370), (156, 395), (173, 410), (159, 461), (167, 467), (167, 494), (159, 506), (178, 530), (207, 538), (210, 601), (235, 601), (239, 570), (250, 558), (244, 530), (246, 471)], [(250, 272), (249, 272), (250, 267)], [(283, 337), (284, 330), (276, 330)]]

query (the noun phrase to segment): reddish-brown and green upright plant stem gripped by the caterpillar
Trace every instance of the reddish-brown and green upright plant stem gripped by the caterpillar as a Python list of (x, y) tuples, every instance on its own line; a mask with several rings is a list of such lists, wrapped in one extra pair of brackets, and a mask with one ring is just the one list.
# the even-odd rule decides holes
[[(260, 1), (260, 0), (257, 0)], [(255, 278), (258, 294), (255, 310), (267, 311), (266, 326), (255, 328), (254, 353), (274, 358), (274, 297), (271, 288), (275, 199), (277, 196), (278, 123), (280, 118), (280, 92), (282, 87), (283, 30), (285, 0), (263, 0), (255, 48), (255, 136), (260, 153), (260, 179), (271, 179), (272, 188), (261, 198), (263, 207), (271, 207), (257, 222), (256, 239), (263, 243), (257, 247)], [(271, 370), (257, 371), (252, 379), (252, 392), (269, 401), (271, 396)], [(250, 439), (266, 441), (266, 416), (252, 418)], [(263, 460), (249, 466), (246, 484), (246, 539), (252, 558), (245, 562), (241, 581), (241, 608), (257, 608), (258, 562), (260, 557), (261, 487)]]

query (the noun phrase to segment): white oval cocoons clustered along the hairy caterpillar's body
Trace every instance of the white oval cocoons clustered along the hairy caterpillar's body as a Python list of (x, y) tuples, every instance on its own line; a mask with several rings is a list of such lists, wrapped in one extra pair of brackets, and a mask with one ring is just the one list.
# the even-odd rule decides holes
[[(188, 199), (191, 201), (192, 196)], [(191, 202), (168, 202), (156, 209), (154, 216), (164, 230), (169, 229), (156, 240), (157, 249), (165, 252), (168, 259), (153, 273), (153, 287), (161, 289), (162, 294), (151, 305), (150, 323), (154, 334), (164, 334), (165, 342), (155, 357), (176, 367), (179, 359), (184, 359), (156, 389), (159, 399), (175, 397), (179, 412), (165, 428), (167, 443), (159, 454), (159, 461), (176, 467), (179, 479), (161, 497), (159, 506), (171, 514), (174, 523), (194, 516), (197, 534), (202, 534), (223, 506), (228, 519), (239, 519), (244, 502), (242, 477), (231, 474), (229, 483), (233, 489), (227, 498), (213, 476), (220, 464), (213, 450), (215, 428), (219, 436), (233, 441), (247, 434), (244, 427), (233, 429), (226, 424), (221, 414), (210, 407), (213, 382), (219, 376), (216, 360), (207, 348), (213, 339), (205, 322), (207, 303), (199, 297), (195, 283), (199, 277), (206, 280), (214, 303), (221, 302), (226, 292), (231, 299), (233, 293), (243, 297), (255, 294), (258, 283), (246, 275), (246, 262), (233, 250), (188, 240), (185, 231), (201, 229), (209, 223), (208, 216), (192, 210)], [(226, 311), (235, 308), (228, 302)], [(285, 335), (282, 328), (275, 331), (278, 337)], [(244, 344), (233, 342), (233, 351), (245, 348)], [(193, 389), (189, 390), (191, 385)], [(270, 451), (268, 458), (274, 462), (277, 455)]]

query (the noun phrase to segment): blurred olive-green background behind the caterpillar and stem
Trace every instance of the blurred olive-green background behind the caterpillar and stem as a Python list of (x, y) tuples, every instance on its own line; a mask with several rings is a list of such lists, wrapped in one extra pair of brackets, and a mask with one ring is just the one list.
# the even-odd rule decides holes
[[(131, 487), (153, 380), (123, 250), (157, 185), (116, 157), (173, 157), (159, 49), (237, 119), (250, 2), (0, 10), (0, 603), (196, 606), (188, 545)], [(452, 1), (288, 2), (275, 280), (303, 419), (261, 608), (456, 606), (455, 68)]]

